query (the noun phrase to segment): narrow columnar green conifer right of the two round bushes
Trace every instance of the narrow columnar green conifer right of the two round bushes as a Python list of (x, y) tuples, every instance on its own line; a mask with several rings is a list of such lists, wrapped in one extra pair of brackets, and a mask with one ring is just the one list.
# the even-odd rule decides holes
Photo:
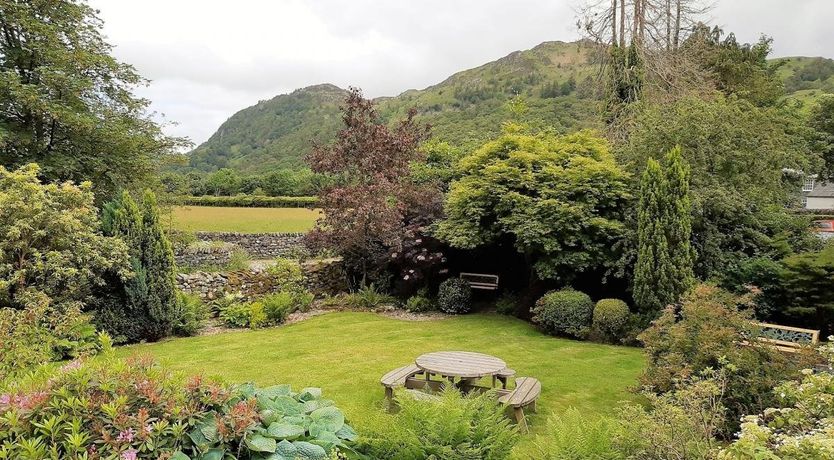
[(649, 314), (677, 302), (694, 281), (689, 168), (679, 147), (661, 166), (649, 159), (640, 183), (634, 301)]

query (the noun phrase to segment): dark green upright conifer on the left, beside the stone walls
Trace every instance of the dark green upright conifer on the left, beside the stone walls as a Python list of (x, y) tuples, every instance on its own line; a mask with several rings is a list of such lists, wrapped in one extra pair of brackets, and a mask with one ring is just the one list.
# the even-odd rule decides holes
[(131, 274), (112, 276), (96, 302), (96, 323), (117, 342), (158, 340), (177, 321), (174, 254), (153, 192), (128, 192), (104, 206), (102, 228), (128, 246)]

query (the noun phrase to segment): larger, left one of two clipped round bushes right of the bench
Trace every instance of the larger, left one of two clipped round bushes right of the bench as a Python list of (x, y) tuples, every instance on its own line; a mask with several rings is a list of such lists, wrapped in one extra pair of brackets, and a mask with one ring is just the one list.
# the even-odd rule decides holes
[(594, 314), (588, 294), (574, 289), (550, 291), (536, 301), (533, 322), (550, 334), (585, 338)]

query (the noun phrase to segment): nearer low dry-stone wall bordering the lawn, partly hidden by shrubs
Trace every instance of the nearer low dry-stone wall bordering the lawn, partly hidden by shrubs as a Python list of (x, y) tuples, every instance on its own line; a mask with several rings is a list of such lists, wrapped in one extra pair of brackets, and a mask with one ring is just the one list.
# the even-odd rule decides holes
[[(301, 264), (305, 282), (310, 292), (316, 295), (333, 295), (347, 291), (341, 259), (311, 260)], [(240, 292), (245, 300), (279, 291), (281, 286), (265, 270), (254, 268), (226, 273), (180, 273), (177, 286), (189, 293), (197, 294), (204, 300), (222, 297), (226, 293)]]

